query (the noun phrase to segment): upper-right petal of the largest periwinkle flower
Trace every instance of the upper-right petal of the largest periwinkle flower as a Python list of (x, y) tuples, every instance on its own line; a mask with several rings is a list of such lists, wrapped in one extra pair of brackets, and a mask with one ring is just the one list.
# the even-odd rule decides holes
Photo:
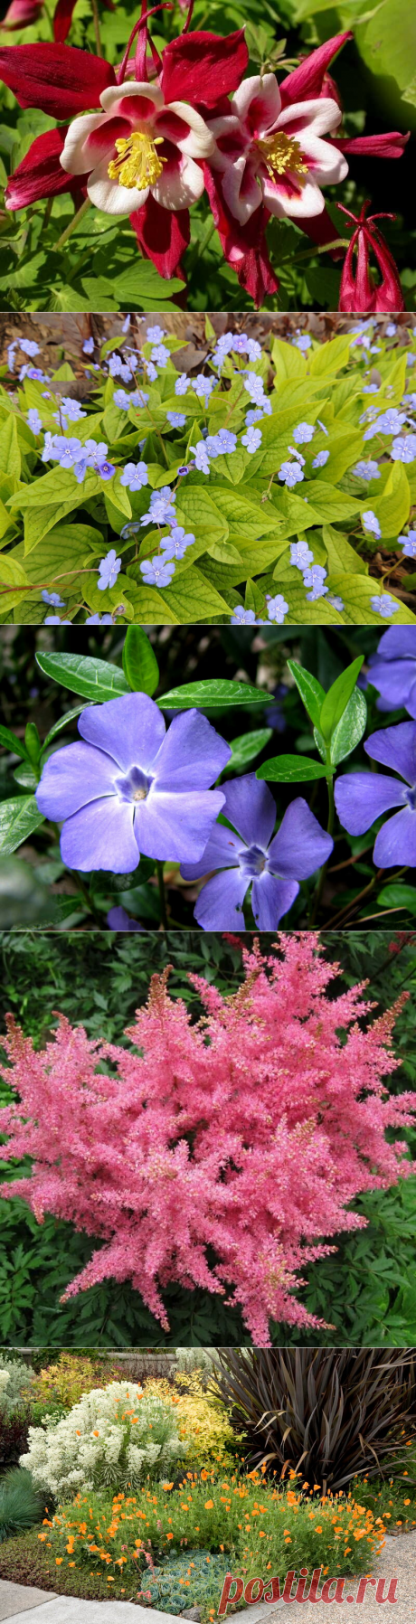
[(229, 757), (229, 744), (202, 711), (180, 711), (154, 757), (158, 789), (210, 789)]

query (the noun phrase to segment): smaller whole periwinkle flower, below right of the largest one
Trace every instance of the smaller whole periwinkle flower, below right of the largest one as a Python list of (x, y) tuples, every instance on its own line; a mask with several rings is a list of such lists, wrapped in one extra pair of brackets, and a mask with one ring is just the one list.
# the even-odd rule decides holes
[(273, 836), (276, 806), (268, 784), (255, 773), (224, 786), (223, 814), (232, 827), (216, 823), (202, 857), (185, 861), (180, 869), (185, 880), (221, 870), (203, 887), (195, 919), (203, 931), (244, 926), (242, 903), (252, 885), (255, 924), (260, 931), (275, 931), (297, 896), (299, 880), (327, 861), (333, 840), (301, 796), (291, 802)]

